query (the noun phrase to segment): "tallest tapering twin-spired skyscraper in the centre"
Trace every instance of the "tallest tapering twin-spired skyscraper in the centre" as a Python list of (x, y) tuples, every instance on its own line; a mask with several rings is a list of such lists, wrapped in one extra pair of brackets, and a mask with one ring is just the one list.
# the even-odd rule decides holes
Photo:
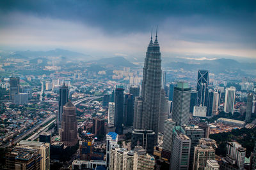
[[(160, 110), (161, 76), (161, 53), (156, 34), (154, 44), (151, 36), (151, 41), (148, 45), (141, 89), (143, 98), (142, 127), (143, 129), (154, 131), (156, 136)], [(155, 138), (155, 144), (156, 141), (157, 138)]]

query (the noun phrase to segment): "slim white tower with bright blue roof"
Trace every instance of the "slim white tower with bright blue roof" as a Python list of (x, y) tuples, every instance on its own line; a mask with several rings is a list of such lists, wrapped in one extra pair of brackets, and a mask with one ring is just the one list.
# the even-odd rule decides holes
[(109, 132), (106, 135), (106, 162), (107, 162), (107, 166), (109, 165), (110, 162), (110, 150), (112, 148), (114, 148), (115, 145), (117, 145), (117, 141), (118, 141), (118, 134), (116, 134), (115, 132)]

